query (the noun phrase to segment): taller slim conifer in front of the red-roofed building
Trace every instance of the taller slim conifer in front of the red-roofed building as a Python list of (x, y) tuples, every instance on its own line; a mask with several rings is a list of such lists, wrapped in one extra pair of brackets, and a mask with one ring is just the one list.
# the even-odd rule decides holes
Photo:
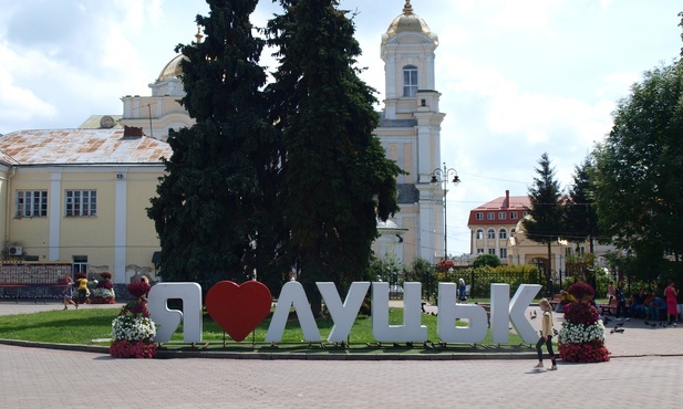
[(556, 243), (563, 231), (562, 223), (562, 198), (560, 185), (555, 179), (555, 169), (550, 167), (548, 154), (541, 155), (536, 168), (538, 174), (534, 178), (534, 186), (529, 188), (530, 218), (525, 218), (522, 223), (527, 231), (527, 238), (548, 247), (548, 262), (546, 263), (547, 291), (552, 293), (551, 263), (552, 243)]

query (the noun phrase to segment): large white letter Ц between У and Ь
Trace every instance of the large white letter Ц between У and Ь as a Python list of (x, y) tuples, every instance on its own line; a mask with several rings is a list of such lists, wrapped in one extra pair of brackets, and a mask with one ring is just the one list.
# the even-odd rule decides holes
[(403, 284), (403, 325), (389, 325), (389, 283), (372, 283), (372, 334), (380, 343), (423, 343), (427, 327), (421, 325), (422, 283)]

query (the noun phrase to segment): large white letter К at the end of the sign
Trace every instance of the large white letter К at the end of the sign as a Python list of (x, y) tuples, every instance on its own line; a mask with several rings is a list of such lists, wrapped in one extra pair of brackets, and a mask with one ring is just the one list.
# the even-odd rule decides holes
[(521, 284), (510, 303), (508, 284), (490, 285), (490, 327), (494, 343), (505, 344), (509, 340), (510, 321), (525, 343), (532, 344), (538, 340), (538, 335), (525, 314), (540, 289), (538, 284)]

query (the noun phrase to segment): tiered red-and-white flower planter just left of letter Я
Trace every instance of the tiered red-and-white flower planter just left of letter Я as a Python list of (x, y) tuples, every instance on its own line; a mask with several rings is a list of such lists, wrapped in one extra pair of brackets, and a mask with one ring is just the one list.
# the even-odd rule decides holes
[(156, 327), (149, 317), (147, 301), (144, 298), (149, 291), (149, 284), (134, 282), (126, 289), (137, 297), (137, 301), (124, 305), (112, 322), (114, 340), (110, 346), (110, 355), (118, 358), (154, 358)]

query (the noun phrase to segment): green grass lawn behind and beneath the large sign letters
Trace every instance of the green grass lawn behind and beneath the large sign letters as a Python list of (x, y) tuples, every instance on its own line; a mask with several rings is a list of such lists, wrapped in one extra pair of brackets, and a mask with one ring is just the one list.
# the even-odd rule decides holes
[[(0, 338), (19, 339), (29, 342), (56, 343), (56, 344), (81, 344), (92, 345), (93, 340), (100, 340), (99, 345), (108, 346), (108, 339), (112, 337), (112, 321), (118, 314), (118, 308), (81, 308), (70, 311), (48, 311), (33, 314), (7, 315), (0, 316)], [(437, 317), (430, 314), (422, 315), (422, 324), (427, 326), (427, 337), (434, 343), (438, 343), (436, 334)], [(390, 308), (390, 324), (400, 325), (403, 322), (403, 308)], [(333, 322), (330, 318), (319, 318), (317, 321), (320, 335), (323, 339), (327, 338), (332, 329)], [(270, 318), (265, 319), (256, 331), (249, 335), (244, 342), (235, 343), (224, 331), (214, 322), (210, 316), (204, 315), (204, 343), (208, 344), (208, 349), (216, 350), (253, 350), (255, 348), (271, 348), (269, 343), (265, 343), (266, 333), (270, 325)], [(458, 325), (465, 325), (458, 322)], [(370, 345), (369, 345), (370, 344)], [(521, 349), (528, 352), (528, 345), (522, 344), (519, 336), (510, 334), (509, 342), (506, 345), (495, 346), (505, 350)], [(225, 346), (224, 346), (225, 345)], [(320, 344), (313, 344), (320, 349)], [(350, 336), (349, 346), (352, 349), (361, 349), (372, 352), (377, 348), (391, 347), (393, 345), (377, 346), (372, 336), (372, 319), (364, 315), (359, 315)], [(164, 344), (167, 349), (187, 348), (188, 344), (183, 343), (183, 326), (180, 325), (174, 334), (172, 340)], [(490, 335), (479, 344), (484, 349), (494, 348), (490, 340)], [(423, 345), (415, 345), (414, 348), (403, 349), (422, 350)], [(469, 344), (449, 345), (447, 349), (453, 348), (473, 348)], [(297, 319), (288, 322), (281, 343), (278, 343), (277, 350), (310, 350), (309, 343), (303, 342), (303, 333)]]

